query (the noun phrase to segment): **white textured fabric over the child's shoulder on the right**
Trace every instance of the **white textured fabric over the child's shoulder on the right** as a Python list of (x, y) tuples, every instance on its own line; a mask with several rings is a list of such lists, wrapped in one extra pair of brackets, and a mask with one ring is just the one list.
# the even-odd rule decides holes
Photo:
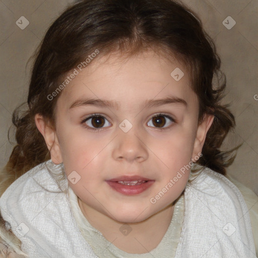
[[(211, 256), (217, 253), (223, 257), (253, 257), (255, 246), (248, 208), (230, 180), (204, 167), (196, 176), (191, 175), (184, 197), (182, 253), (190, 253), (193, 245), (213, 243)], [(196, 255), (204, 255), (202, 249), (196, 250)]]

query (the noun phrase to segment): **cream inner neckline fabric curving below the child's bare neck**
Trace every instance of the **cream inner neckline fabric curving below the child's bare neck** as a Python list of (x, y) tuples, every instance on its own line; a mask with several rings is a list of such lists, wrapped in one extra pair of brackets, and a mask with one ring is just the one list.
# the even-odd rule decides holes
[(78, 197), (69, 187), (69, 199), (76, 222), (85, 240), (91, 245), (94, 252), (100, 258), (153, 258), (153, 257), (174, 257), (175, 250), (180, 238), (183, 222), (184, 196), (177, 200), (174, 206), (174, 213), (171, 223), (158, 246), (147, 253), (132, 254), (120, 250), (114, 244), (107, 241), (104, 236), (95, 229), (83, 215), (78, 203)]

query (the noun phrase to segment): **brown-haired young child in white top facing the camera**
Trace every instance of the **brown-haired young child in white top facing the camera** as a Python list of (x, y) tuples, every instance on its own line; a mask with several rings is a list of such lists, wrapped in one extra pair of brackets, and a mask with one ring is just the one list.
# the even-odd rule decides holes
[(37, 52), (28, 110), (14, 112), (2, 247), (24, 257), (255, 257), (248, 208), (224, 176), (237, 149), (220, 151), (235, 124), (220, 104), (225, 85), (186, 7), (70, 7)]

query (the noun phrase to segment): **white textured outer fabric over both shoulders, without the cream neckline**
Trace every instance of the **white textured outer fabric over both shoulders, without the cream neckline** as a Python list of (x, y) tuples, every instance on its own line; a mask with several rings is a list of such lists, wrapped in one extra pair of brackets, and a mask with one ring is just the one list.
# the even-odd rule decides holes
[[(30, 258), (96, 258), (72, 212), (63, 165), (48, 160), (14, 181), (0, 211)], [(163, 256), (157, 256), (163, 257)], [(184, 191), (184, 218), (175, 258), (255, 258), (247, 206), (225, 176), (205, 168)]]

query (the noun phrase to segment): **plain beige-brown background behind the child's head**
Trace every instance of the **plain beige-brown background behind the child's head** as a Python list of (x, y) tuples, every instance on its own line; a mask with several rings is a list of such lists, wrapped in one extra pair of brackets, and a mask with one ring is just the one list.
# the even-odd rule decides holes
[[(224, 148), (242, 143), (229, 174), (258, 195), (258, 86), (257, 86), (257, 0), (184, 0), (203, 21), (215, 40), (227, 76), (227, 96), (236, 118), (236, 129)], [(40, 43), (47, 27), (72, 0), (0, 0), (0, 167), (12, 151), (7, 132), (14, 108), (26, 101), (31, 63), (26, 63)], [(29, 25), (21, 30), (16, 21), (24, 16)], [(235, 26), (223, 21), (231, 16)], [(227, 19), (226, 19), (227, 22)], [(232, 21), (229, 20), (229, 25)], [(256, 95), (257, 94), (257, 95)], [(256, 98), (256, 100), (255, 100)]]

